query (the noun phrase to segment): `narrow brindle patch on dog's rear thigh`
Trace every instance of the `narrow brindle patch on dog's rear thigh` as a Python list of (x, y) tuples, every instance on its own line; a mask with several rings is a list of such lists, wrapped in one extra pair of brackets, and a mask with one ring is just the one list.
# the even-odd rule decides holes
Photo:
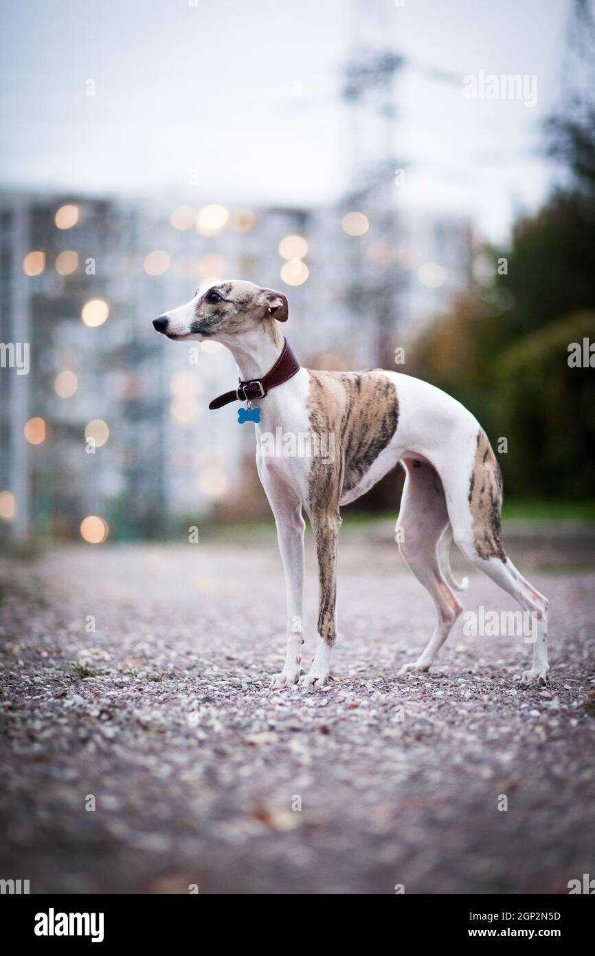
[(496, 455), (482, 428), (469, 481), (469, 506), (473, 520), (473, 540), (479, 557), (506, 560), (502, 545), (500, 512), (502, 476)]

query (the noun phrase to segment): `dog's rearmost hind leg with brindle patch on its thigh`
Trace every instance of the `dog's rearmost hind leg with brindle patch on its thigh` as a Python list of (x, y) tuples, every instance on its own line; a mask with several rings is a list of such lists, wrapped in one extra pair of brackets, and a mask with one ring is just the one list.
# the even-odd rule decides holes
[[(491, 577), (532, 616), (526, 642), (533, 643), (533, 663), (524, 671), (525, 682), (546, 681), (547, 598), (522, 577), (504, 552), (500, 525), (502, 482), (498, 461), (485, 432), (469, 436), (464, 457), (439, 467), (448, 501), (448, 512), (457, 548), (477, 568)], [(460, 443), (464, 448), (463, 442)], [(437, 464), (437, 463), (436, 463)]]

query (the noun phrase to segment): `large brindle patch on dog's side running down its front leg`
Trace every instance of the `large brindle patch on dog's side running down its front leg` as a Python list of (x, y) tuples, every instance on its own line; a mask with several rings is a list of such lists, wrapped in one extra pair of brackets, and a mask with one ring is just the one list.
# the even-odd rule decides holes
[(381, 371), (312, 372), (309, 375), (309, 429), (334, 435), (334, 457), (312, 458), (307, 511), (314, 530), (320, 568), (318, 633), (336, 637), (336, 535), (339, 501), (354, 489), (389, 445), (398, 422), (396, 388)]

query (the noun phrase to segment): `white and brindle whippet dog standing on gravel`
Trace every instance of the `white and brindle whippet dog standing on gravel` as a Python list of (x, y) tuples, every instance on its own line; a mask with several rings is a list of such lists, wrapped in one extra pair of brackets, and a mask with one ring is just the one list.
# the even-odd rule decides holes
[[(372, 488), (401, 463), (406, 471), (395, 539), (405, 562), (436, 606), (436, 629), (427, 647), (401, 674), (427, 671), (462, 611), (455, 591), (467, 585), (450, 567), (459, 551), (538, 621), (533, 662), (525, 682), (547, 680), (547, 599), (506, 556), (500, 528), (502, 482), (487, 436), (471, 412), (425, 381), (396, 372), (326, 372), (287, 365), (278, 323), (287, 321), (287, 297), (242, 280), (198, 291), (186, 305), (160, 315), (154, 326), (177, 341), (214, 340), (229, 349), (240, 373), (238, 388), (211, 402), (258, 398), (256, 465), (275, 516), (287, 582), (287, 655), (271, 687), (326, 684), (337, 635), (336, 545), (339, 508)], [(289, 350), (290, 352), (290, 350)], [(291, 354), (292, 357), (292, 354)], [(292, 357), (293, 358), (293, 357)], [(285, 374), (266, 384), (270, 370)], [(288, 371), (287, 371), (288, 369)], [(274, 378), (274, 376), (273, 376)], [(249, 387), (248, 387), (249, 386)], [(274, 387), (273, 387), (274, 386)], [(263, 395), (263, 393), (265, 393)], [(261, 397), (262, 396), (262, 397)], [(266, 436), (332, 437), (331, 456), (287, 456), (268, 448)], [(328, 446), (328, 445), (327, 445)], [(314, 533), (319, 576), (318, 637), (313, 662), (302, 674), (304, 530)]]

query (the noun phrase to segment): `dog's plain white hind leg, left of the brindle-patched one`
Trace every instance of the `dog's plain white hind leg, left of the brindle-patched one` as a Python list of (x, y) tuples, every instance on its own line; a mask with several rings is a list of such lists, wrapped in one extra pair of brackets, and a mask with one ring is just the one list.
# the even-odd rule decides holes
[[(406, 663), (401, 668), (401, 674), (410, 670), (429, 670), (462, 611), (450, 582), (442, 573), (438, 556), (439, 542), (448, 526), (444, 489), (431, 465), (417, 460), (406, 460), (404, 464), (407, 477), (396, 524), (396, 540), (406, 564), (434, 600), (437, 620), (427, 647), (417, 661)], [(450, 573), (448, 561), (446, 567)]]

